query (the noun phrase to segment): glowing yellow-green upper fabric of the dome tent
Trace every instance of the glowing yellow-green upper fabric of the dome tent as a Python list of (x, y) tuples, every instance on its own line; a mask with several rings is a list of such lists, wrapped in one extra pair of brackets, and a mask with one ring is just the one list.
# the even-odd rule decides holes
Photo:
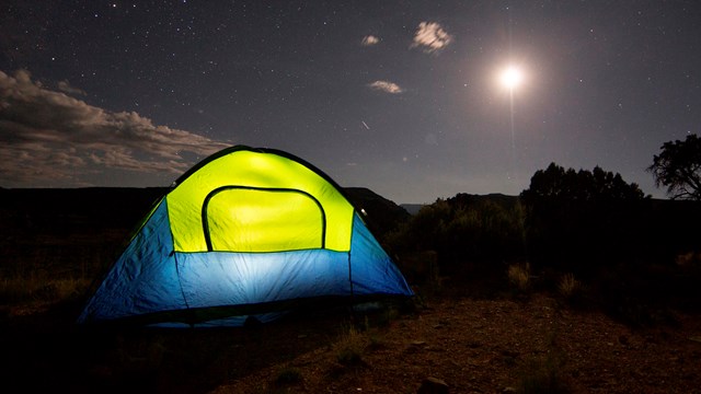
[[(279, 237), (279, 242), (290, 243), (288, 247), (307, 248), (310, 245), (298, 239), (300, 233), (310, 236), (309, 232), (317, 231), (312, 235), (321, 236), (319, 231), (325, 230), (325, 236), (320, 241), (326, 248), (345, 252), (349, 247), (353, 206), (333, 184), (289, 157), (235, 149), (209, 161), (182, 181), (166, 198), (177, 252), (205, 252), (216, 246), (208, 245), (207, 233), (203, 232), (203, 228), (209, 227), (203, 220), (205, 217), (216, 218), (221, 225), (209, 230), (233, 230), (228, 234), (244, 234), (249, 241)], [(223, 216), (232, 219), (231, 222), (221, 221), (222, 217), (217, 216), (221, 206), (234, 210), (231, 216)], [(320, 211), (314, 212), (314, 209)], [(325, 229), (312, 220), (322, 216), (325, 217)], [(284, 219), (288, 227), (283, 228), (284, 223), (276, 219)], [(304, 221), (307, 225), (302, 227), (298, 221)], [(256, 232), (238, 231), (237, 224)], [(269, 242), (267, 247), (255, 248), (255, 243), (249, 245), (253, 247), (251, 252), (275, 252), (284, 247)]]

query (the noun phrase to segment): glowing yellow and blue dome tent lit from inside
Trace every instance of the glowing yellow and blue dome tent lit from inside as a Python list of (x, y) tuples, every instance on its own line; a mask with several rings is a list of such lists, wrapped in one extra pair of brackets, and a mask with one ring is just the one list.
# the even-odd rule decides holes
[(237, 146), (154, 205), (79, 322), (239, 326), (300, 305), (407, 296), (336, 183), (289, 153)]

